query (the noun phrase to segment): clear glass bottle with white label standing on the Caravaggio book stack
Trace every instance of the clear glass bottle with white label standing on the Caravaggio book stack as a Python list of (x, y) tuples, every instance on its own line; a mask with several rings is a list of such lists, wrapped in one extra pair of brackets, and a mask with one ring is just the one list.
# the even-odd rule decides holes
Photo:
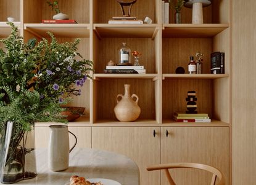
[(123, 65), (123, 66), (130, 66), (132, 65), (131, 63), (131, 49), (126, 45), (126, 42), (123, 42), (123, 45), (118, 49), (119, 53), (119, 63), (118, 65)]

